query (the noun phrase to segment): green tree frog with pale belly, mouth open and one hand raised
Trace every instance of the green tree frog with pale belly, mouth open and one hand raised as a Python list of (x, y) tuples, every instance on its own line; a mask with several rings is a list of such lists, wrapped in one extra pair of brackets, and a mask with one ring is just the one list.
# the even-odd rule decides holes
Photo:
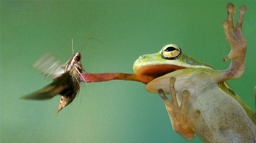
[(134, 62), (135, 74), (153, 77), (146, 90), (163, 99), (173, 129), (187, 140), (195, 135), (204, 142), (256, 140), (254, 111), (226, 83), (241, 77), (245, 70), (247, 43), (242, 22), (247, 7), (240, 6), (236, 27), (235, 5), (228, 3), (226, 9), (228, 16), (223, 27), (231, 46), (230, 53), (223, 58), (223, 62), (231, 59), (226, 70), (216, 70), (174, 44), (164, 46), (158, 53), (140, 56)]

